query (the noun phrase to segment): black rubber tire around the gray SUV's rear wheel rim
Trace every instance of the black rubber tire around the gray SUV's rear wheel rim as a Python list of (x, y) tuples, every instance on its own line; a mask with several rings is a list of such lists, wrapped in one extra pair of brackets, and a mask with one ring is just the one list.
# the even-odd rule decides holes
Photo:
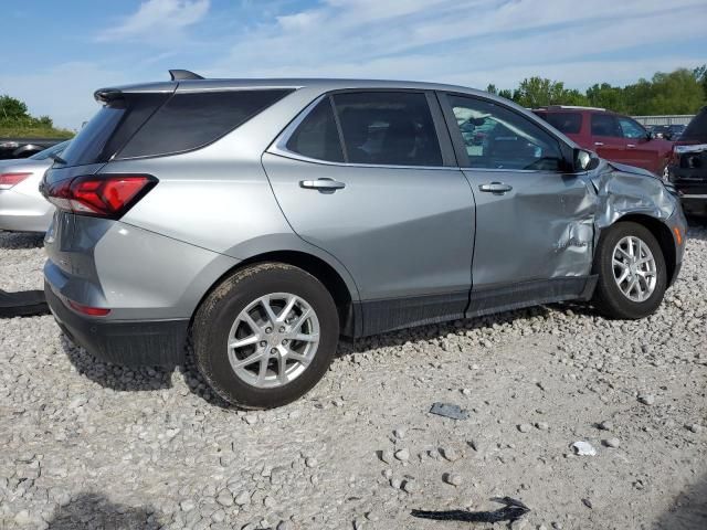
[[(236, 316), (253, 300), (272, 293), (291, 293), (312, 306), (319, 320), (319, 344), (310, 364), (294, 381), (258, 389), (235, 374), (226, 342)], [(267, 409), (297, 400), (324, 377), (336, 352), (338, 336), (336, 305), (321, 283), (294, 266), (261, 264), (228, 278), (204, 301), (194, 319), (194, 357), (199, 371), (223, 399), (247, 409)]]

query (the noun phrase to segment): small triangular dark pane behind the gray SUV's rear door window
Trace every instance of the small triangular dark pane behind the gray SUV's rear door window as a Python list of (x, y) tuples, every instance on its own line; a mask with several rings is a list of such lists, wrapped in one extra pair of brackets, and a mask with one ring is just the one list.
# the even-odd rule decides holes
[(325, 97), (287, 140), (287, 149), (308, 158), (342, 162), (344, 151), (336, 128), (331, 100)]

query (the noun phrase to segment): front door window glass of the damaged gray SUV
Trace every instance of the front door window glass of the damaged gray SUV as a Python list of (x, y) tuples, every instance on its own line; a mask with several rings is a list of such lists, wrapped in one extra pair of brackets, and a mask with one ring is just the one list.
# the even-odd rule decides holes
[(536, 124), (492, 102), (450, 96), (469, 167), (549, 170), (562, 165), (558, 141)]

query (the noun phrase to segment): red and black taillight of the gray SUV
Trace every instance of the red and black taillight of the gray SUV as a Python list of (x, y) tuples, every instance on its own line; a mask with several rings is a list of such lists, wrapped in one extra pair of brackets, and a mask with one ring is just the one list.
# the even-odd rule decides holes
[(156, 184), (150, 174), (96, 174), (42, 186), (42, 193), (61, 210), (119, 219)]

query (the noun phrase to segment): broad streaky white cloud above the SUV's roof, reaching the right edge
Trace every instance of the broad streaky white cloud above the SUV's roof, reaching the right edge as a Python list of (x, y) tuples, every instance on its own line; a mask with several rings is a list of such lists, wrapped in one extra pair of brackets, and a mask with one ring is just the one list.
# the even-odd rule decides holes
[[(513, 87), (530, 75), (579, 87), (630, 83), (695, 64), (695, 53), (676, 44), (701, 34), (705, 15), (707, 4), (696, 0), (593, 0), (581, 8), (576, 0), (326, 0), (239, 31), (225, 59), (205, 72), (481, 87)], [(641, 56), (648, 43), (652, 51)], [(661, 44), (669, 47), (656, 51)], [(633, 56), (622, 57), (626, 50)]]

